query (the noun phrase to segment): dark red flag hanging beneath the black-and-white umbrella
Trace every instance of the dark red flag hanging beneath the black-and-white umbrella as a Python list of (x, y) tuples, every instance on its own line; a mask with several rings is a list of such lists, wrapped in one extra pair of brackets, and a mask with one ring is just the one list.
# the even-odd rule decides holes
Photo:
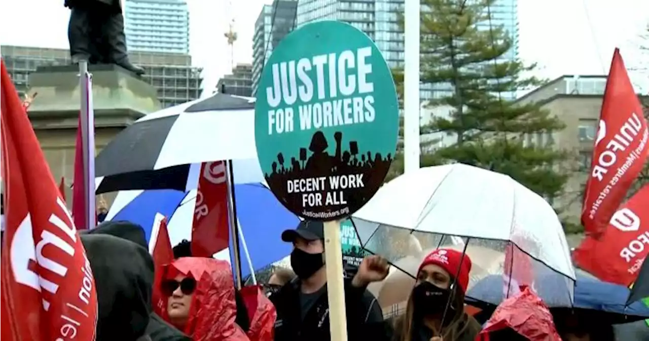
[(228, 184), (225, 161), (201, 165), (191, 229), (191, 255), (212, 257), (228, 247)]

